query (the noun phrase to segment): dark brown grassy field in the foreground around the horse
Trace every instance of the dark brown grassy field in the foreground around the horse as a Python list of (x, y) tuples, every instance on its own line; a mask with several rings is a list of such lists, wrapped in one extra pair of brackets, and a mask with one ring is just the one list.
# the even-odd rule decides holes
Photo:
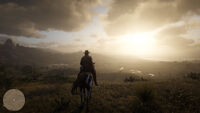
[[(24, 93), (25, 106), (17, 113), (81, 112), (80, 96), (70, 93), (74, 76), (26, 79), (11, 80), (7, 84), (12, 85), (1, 88), (1, 100), (7, 89), (17, 88)], [(199, 80), (184, 77), (135, 82), (101, 79), (99, 86), (93, 86), (89, 112), (200, 113), (199, 86)], [(1, 107), (0, 113), (10, 112)]]

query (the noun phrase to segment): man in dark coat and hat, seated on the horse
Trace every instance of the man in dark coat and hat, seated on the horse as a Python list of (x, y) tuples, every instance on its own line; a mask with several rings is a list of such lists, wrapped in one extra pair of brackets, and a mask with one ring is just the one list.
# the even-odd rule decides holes
[(80, 62), (81, 68), (80, 68), (80, 72), (79, 72), (78, 76), (82, 72), (90, 72), (90, 73), (92, 73), (95, 85), (98, 86), (97, 80), (96, 80), (96, 70), (94, 68), (94, 63), (92, 61), (92, 57), (89, 56), (88, 50), (85, 50), (84, 54), (85, 55), (81, 58), (81, 62)]

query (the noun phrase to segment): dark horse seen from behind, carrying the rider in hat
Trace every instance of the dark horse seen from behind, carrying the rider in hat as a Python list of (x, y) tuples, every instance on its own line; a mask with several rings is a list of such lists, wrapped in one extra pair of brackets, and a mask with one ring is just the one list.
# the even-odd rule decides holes
[[(82, 109), (84, 105), (86, 104), (86, 112), (88, 111), (88, 102), (91, 98), (92, 93), (92, 73), (89, 72), (82, 72), (78, 75), (77, 80), (73, 83), (71, 93), (74, 94), (75, 91), (77, 91), (77, 88), (80, 89), (80, 97), (81, 97), (81, 103), (80, 108)], [(87, 96), (86, 96), (87, 91)], [(84, 97), (84, 101), (83, 101)]]

